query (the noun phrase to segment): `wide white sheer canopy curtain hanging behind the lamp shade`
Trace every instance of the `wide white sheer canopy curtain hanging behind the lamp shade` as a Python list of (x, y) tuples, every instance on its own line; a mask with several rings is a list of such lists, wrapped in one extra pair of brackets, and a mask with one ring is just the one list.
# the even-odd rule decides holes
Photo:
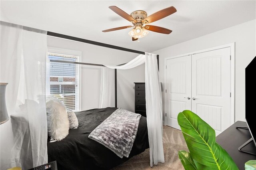
[(0, 169), (45, 164), (47, 36), (45, 31), (0, 22), (0, 82), (10, 120), (0, 125)]

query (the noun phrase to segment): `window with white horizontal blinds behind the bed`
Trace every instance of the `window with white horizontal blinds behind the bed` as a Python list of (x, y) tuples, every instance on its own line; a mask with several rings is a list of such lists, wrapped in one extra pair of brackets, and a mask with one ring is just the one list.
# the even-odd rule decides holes
[[(78, 62), (78, 56), (56, 53), (48, 53), (48, 58)], [(67, 109), (79, 111), (79, 66), (77, 64), (50, 61), (50, 94), (62, 101)]]

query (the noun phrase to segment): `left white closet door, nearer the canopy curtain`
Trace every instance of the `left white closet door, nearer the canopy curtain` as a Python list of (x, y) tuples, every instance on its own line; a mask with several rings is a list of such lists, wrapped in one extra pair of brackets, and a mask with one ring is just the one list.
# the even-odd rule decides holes
[(191, 110), (191, 55), (166, 61), (166, 125), (180, 129), (178, 113)]

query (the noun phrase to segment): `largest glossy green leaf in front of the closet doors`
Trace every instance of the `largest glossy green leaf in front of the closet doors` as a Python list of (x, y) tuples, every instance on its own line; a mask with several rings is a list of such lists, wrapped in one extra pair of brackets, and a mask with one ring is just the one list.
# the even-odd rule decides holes
[(198, 115), (183, 111), (178, 114), (178, 123), (198, 169), (238, 170), (226, 150), (215, 142), (214, 129)]

